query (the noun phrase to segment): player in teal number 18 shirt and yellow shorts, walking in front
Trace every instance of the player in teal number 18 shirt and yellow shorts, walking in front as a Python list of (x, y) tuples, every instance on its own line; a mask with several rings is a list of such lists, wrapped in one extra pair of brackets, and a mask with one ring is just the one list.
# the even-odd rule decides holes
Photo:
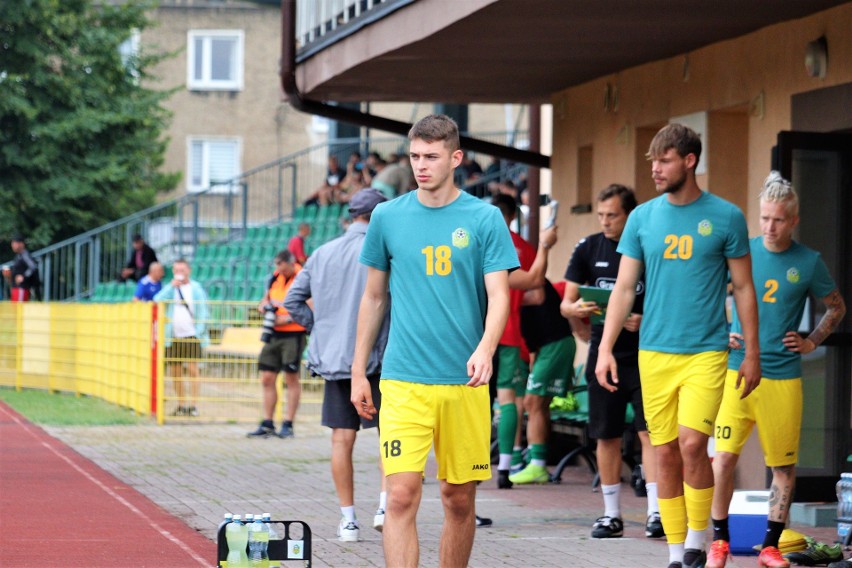
[(376, 207), (361, 250), (367, 284), (358, 313), (352, 403), (375, 414), (365, 370), (385, 310), (379, 416), (387, 478), (388, 566), (417, 566), (416, 516), (432, 444), (444, 528), (441, 566), (467, 566), (478, 481), (490, 479), (492, 357), (509, 314), (509, 270), (518, 255), (500, 210), (453, 184), (458, 127), (430, 115), (408, 134), (417, 191)]

